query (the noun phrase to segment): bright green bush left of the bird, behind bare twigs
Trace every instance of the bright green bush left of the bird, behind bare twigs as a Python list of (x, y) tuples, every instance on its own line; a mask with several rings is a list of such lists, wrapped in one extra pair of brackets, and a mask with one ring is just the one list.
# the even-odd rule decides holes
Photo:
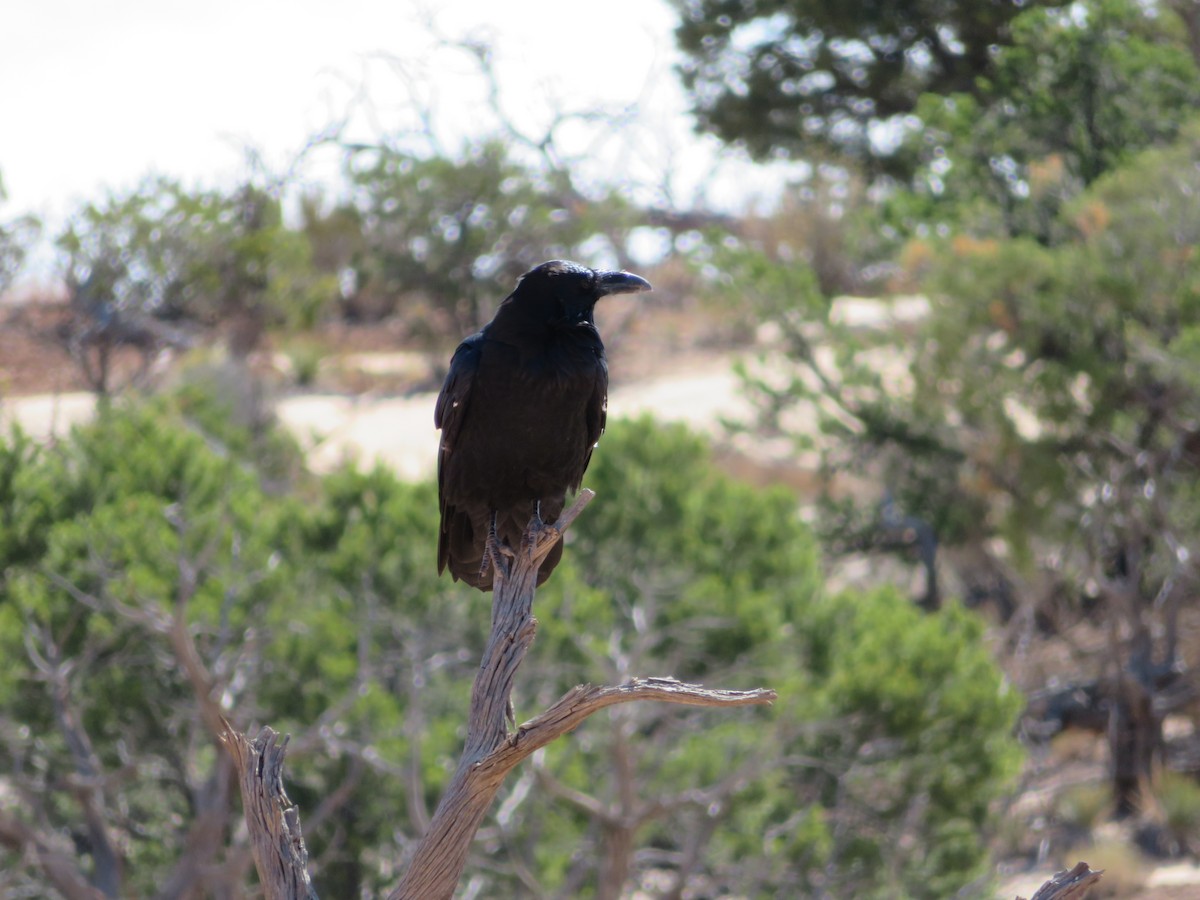
[[(192, 414), (212, 415), (194, 397), (184, 402)], [(414, 587), (427, 588), (422, 596), (431, 601), (438, 596), (427, 541), (406, 533), (395, 548), (362, 551), (364, 540), (386, 541), (395, 530), (365, 536), (350, 521), (383, 491), (390, 521), (432, 534), (436, 503), (427, 486), (374, 478), (358, 486), (356, 499), (342, 500), (346, 490), (335, 478), (328, 500), (272, 498), (259, 487), (260, 473), (239, 457), (248, 452), (248, 437), (230, 440), (230, 452), (197, 425), (185, 424), (168, 402), (115, 406), (53, 450), (36, 450), (18, 436), (0, 456), (2, 768), (14, 773), (14, 790), (44, 793), (46, 803), (26, 810), (36, 827), (68, 829), (80, 821), (72, 794), (60, 787), (80, 766), (77, 745), (55, 712), (60, 701), (49, 701), (59, 695), (47, 673), (61, 659), (68, 666), (61, 670), (62, 708), (96, 749), (95, 764), (108, 772), (132, 767), (132, 776), (114, 782), (101, 803), (112, 803), (107, 828), (122, 848), (131, 894), (161, 886), (182, 858), (196, 797), (228, 808), (227, 815), (235, 809), (218, 775), (223, 755), (184, 671), (175, 617), (186, 617), (224, 714), (244, 727), (269, 719), (301, 738), (290, 757), (298, 772), (289, 790), (307, 809), (347, 779), (361, 785), (346, 800), (352, 818), (330, 836), (308, 835), (314, 852), (360, 860), (365, 839), (374, 847), (396, 824), (402, 785), (354, 774), (361, 763), (353, 764), (346, 748), (406, 755), (400, 703), (407, 697), (400, 688), (414, 666), (396, 648), (413, 649), (406, 638), (416, 630), (412, 619), (403, 628), (398, 619), (382, 622), (384, 604), (364, 588), (383, 582), (401, 604)], [(226, 424), (223, 434), (230, 432)], [(410, 510), (420, 511), (419, 522)], [(349, 542), (360, 548), (352, 551)], [(353, 569), (346, 562), (352, 558)], [(380, 566), (390, 582), (372, 577)], [(448, 635), (438, 649), (456, 648), (467, 630)], [(455, 688), (468, 668), (454, 672)], [(324, 751), (306, 754), (305, 734)], [(439, 736), (454, 738), (444, 730)], [(437, 784), (431, 778), (430, 790)], [(152, 840), (138, 839), (143, 829)], [(4, 860), (10, 864), (18, 860)], [(356, 894), (356, 884), (376, 893), (383, 882), (364, 865), (331, 866), (322, 886), (334, 895)]]

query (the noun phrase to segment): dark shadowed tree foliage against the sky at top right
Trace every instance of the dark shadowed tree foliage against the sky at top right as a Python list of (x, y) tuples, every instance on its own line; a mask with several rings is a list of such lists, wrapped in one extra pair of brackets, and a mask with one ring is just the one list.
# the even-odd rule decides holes
[[(774, 155), (901, 172), (882, 122), (906, 125), (922, 94), (974, 92), (1022, 5), (679, 0), (676, 40), (700, 127)], [(872, 158), (874, 157), (874, 158)]]

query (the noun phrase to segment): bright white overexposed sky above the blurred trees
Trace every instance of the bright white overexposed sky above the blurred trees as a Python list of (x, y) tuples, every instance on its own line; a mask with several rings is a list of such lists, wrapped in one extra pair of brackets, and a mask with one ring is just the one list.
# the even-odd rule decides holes
[(5, 7), (0, 178), (8, 202), (0, 217), (32, 211), (52, 229), (79, 202), (128, 188), (150, 172), (223, 182), (245, 172), (246, 146), (282, 167), (354, 96), (371, 100), (371, 115), (356, 107), (354, 119), (366, 139), (412, 124), (413, 95), (383, 60), (389, 54), (433, 104), (445, 140), (479, 133), (482, 84), (464, 55), (433, 49), (431, 16), (445, 36), (492, 43), (505, 109), (527, 130), (548, 121), (556, 106), (632, 106), (640, 121), (632, 139), (596, 145), (594, 132), (578, 130), (574, 142), (568, 132), (569, 149), (587, 149), (605, 174), (628, 167), (644, 185), (668, 173), (683, 204), (698, 190), (719, 204), (766, 194), (778, 178), (738, 162), (724, 164), (724, 179), (709, 176), (716, 145), (688, 125), (672, 73), (676, 13), (665, 0), (8, 0)]

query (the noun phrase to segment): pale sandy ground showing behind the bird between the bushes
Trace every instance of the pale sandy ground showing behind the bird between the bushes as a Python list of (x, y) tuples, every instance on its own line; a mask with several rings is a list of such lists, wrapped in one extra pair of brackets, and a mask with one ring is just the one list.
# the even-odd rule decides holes
[[(878, 329), (905, 324), (923, 317), (926, 311), (928, 304), (920, 298), (901, 298), (887, 304), (845, 298), (835, 304), (834, 318), (857, 328)], [(17, 319), (10, 317), (0, 328), (0, 427), (16, 421), (38, 439), (61, 436), (72, 425), (86, 421), (94, 409), (92, 396), (76, 390), (82, 385), (78, 377), (71, 377), (74, 367), (64, 356), (62, 348), (46, 340), (62, 310), (31, 306), (18, 312)], [(750, 407), (732, 372), (733, 358), (712, 352), (702, 355), (667, 352), (660, 332), (671, 334), (683, 325), (667, 320), (661, 329), (649, 329), (655, 335), (649, 343), (636, 336), (629, 338), (630, 349), (619, 360), (620, 366), (625, 367), (623, 371), (632, 370), (643, 377), (611, 390), (610, 418), (650, 413), (664, 421), (685, 422), (712, 437), (725, 437), (724, 421), (750, 416)], [(379, 329), (376, 331), (379, 332), (376, 337), (384, 338), (386, 344), (388, 335)], [(359, 343), (361, 337), (356, 338)], [(287, 354), (276, 354), (276, 358), (275, 367), (286, 378), (290, 360)], [(616, 367), (617, 362), (613, 359), (612, 365)], [(896, 360), (889, 359), (887, 364), (894, 366)], [(367, 377), (368, 382), (370, 377), (398, 378), (428, 367), (427, 359), (420, 354), (380, 352), (378, 346), (367, 347), (365, 353), (331, 355), (323, 365), (336, 367), (337, 380), (343, 385), (353, 385), (355, 373)], [(38, 390), (47, 392), (35, 392)], [(388, 396), (370, 389), (358, 394), (312, 392), (284, 397), (277, 412), (310, 454), (310, 464), (316, 472), (328, 472), (343, 460), (355, 458), (365, 466), (383, 463), (402, 478), (419, 479), (428, 475), (436, 464), (436, 392)], [(803, 428), (806, 424), (788, 422), (793, 428)], [(787, 480), (788, 473), (780, 473), (780, 467), (799, 468), (790, 445), (745, 438), (727, 443), (744, 460), (769, 469), (772, 478), (782, 475)]]

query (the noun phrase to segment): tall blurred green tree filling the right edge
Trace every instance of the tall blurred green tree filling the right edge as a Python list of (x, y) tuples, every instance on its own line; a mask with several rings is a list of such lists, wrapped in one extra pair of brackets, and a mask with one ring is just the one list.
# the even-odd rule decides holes
[[(1124, 815), (1153, 794), (1198, 649), (1182, 623), (1200, 536), (1184, 374), (1200, 185), (1194, 115), (1177, 112), (1195, 109), (1198, 82), (1165, 8), (1069, 12), (1015, 18), (985, 90), (926, 95), (926, 174), (864, 214), (901, 239), (899, 275), (929, 292), (928, 320), (898, 346), (838, 320), (826, 294), (760, 278), (780, 326), (769, 364), (792, 376), (749, 380), (768, 427), (787, 432), (797, 407), (820, 421), (798, 445), (827, 473), (830, 550), (911, 553), (925, 534), (926, 601), (936, 553), (954, 593), (1006, 619), (1020, 605), (1014, 650), (1032, 629), (1074, 635)], [(1031, 691), (1054, 678), (1028, 659), (1013, 671)]]

